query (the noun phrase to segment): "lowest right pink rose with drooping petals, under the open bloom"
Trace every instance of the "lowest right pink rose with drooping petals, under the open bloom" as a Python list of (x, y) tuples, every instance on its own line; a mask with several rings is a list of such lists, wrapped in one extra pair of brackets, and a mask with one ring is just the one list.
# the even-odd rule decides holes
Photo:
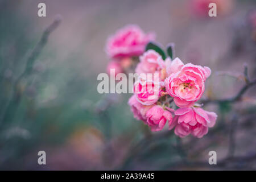
[(208, 127), (215, 125), (217, 114), (205, 111), (200, 107), (185, 107), (175, 111), (174, 122), (169, 130), (175, 127), (174, 133), (183, 138), (189, 134), (202, 138), (208, 133)]

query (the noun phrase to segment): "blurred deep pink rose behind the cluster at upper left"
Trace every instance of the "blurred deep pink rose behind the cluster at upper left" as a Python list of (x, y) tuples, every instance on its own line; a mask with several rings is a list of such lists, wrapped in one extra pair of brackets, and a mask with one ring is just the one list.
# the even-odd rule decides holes
[(108, 39), (106, 52), (112, 58), (139, 56), (145, 51), (147, 43), (154, 39), (154, 34), (145, 34), (137, 25), (129, 25)]

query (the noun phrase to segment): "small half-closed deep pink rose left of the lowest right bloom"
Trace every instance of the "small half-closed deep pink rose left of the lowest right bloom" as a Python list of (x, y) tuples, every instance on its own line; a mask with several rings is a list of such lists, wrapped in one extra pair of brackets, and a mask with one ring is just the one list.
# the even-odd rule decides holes
[(172, 122), (172, 114), (159, 105), (151, 107), (151, 109), (147, 111), (146, 117), (147, 125), (152, 131), (162, 130), (167, 120), (169, 121), (169, 125)]

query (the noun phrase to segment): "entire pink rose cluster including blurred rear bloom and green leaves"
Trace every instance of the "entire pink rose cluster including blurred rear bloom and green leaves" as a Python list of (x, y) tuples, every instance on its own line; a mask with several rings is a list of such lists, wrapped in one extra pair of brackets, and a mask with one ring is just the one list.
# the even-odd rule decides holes
[(137, 26), (128, 26), (110, 38), (107, 46), (109, 56), (115, 60), (141, 55), (135, 72), (151, 74), (150, 78), (139, 77), (133, 85), (134, 94), (128, 104), (134, 117), (152, 131), (162, 130), (168, 121), (169, 130), (174, 128), (179, 137), (203, 137), (217, 119), (216, 113), (195, 105), (204, 93), (210, 68), (184, 64), (177, 57), (172, 60), (172, 47), (167, 47), (166, 57), (159, 46), (150, 42), (152, 39), (154, 36), (144, 34)]

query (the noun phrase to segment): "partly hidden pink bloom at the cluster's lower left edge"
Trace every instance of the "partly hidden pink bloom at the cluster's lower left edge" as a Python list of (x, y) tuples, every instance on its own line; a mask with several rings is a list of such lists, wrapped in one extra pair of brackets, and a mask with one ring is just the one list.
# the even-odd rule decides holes
[(138, 120), (142, 120), (146, 123), (146, 112), (154, 105), (146, 106), (139, 103), (136, 99), (136, 96), (133, 95), (130, 97), (128, 104), (131, 107), (131, 111), (133, 112), (134, 118)]

